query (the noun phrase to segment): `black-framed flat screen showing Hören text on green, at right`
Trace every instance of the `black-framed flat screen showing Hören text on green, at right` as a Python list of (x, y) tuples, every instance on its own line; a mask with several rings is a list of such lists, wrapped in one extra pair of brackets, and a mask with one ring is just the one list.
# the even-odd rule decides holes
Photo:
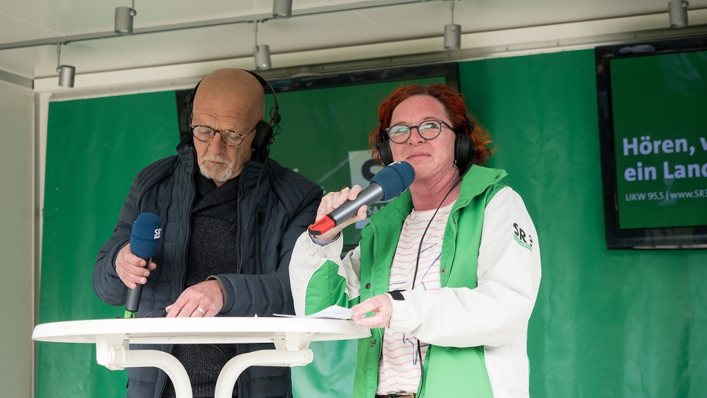
[(707, 248), (707, 36), (595, 61), (607, 248)]

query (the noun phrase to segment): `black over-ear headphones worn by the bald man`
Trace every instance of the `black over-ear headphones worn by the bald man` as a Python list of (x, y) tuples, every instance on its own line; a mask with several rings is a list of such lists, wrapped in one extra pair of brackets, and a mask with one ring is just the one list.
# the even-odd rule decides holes
[[(279, 133), (280, 130), (280, 113), (277, 104), (277, 97), (275, 96), (275, 91), (267, 80), (263, 79), (262, 76), (256, 74), (255, 72), (250, 72), (247, 69), (243, 69), (245, 72), (250, 73), (260, 85), (263, 87), (264, 93), (272, 93), (272, 98), (275, 101), (275, 105), (270, 109), (270, 122), (265, 120), (259, 120), (257, 125), (255, 125), (255, 136), (253, 137), (253, 142), (250, 147), (253, 150), (252, 160), (264, 162), (269, 156), (270, 144), (274, 141), (275, 135)], [(182, 115), (180, 115), (180, 140), (184, 140), (189, 135), (192, 135), (191, 125), (192, 125), (192, 109), (194, 108), (194, 96), (197, 94), (197, 89), (199, 89), (199, 84), (194, 87), (191, 93), (185, 98), (185, 109), (182, 110)]]

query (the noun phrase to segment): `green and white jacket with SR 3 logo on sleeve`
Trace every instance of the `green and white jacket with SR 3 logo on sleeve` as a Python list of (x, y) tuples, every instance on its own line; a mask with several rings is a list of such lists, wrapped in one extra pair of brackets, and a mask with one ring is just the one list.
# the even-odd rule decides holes
[[(393, 300), (390, 329), (429, 344), (421, 397), (528, 397), (527, 324), (540, 284), (534, 224), (506, 171), (472, 166), (452, 207), (440, 258), (440, 290), (407, 290)], [(402, 224), (403, 193), (370, 217), (343, 260), (342, 240), (319, 246), (305, 232), (290, 280), (298, 315), (351, 307), (388, 291)], [(354, 398), (375, 397), (383, 329), (358, 341)]]

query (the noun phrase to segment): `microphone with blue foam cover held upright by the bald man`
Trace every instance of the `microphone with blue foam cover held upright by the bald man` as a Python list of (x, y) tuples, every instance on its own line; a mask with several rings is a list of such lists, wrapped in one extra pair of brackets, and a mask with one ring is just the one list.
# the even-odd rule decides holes
[[(160, 217), (149, 212), (141, 213), (135, 220), (130, 234), (130, 251), (148, 263), (157, 251), (157, 246), (160, 244), (160, 235), (162, 235)], [(137, 309), (140, 306), (142, 287), (143, 285), (136, 283), (134, 289), (128, 289), (128, 295), (125, 299), (124, 318), (134, 318), (136, 316)]]

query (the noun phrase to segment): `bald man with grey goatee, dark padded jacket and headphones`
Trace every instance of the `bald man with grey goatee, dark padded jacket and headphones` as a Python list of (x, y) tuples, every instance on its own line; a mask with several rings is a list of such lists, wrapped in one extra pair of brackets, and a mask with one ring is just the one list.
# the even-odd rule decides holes
[[(262, 77), (242, 69), (208, 74), (188, 97), (177, 154), (139, 172), (112, 237), (98, 254), (93, 285), (101, 300), (124, 305), (143, 285), (138, 317), (269, 317), (292, 314), (292, 247), (315, 218), (322, 188), (269, 159), (277, 101), (263, 120)], [(193, 99), (193, 102), (192, 102)], [(151, 212), (162, 238), (148, 261), (130, 251), (132, 224)], [(146, 345), (185, 365), (194, 397), (214, 397), (223, 365), (269, 344)], [(127, 397), (176, 397), (157, 368), (129, 368)], [(286, 367), (251, 367), (233, 397), (291, 397)]]

